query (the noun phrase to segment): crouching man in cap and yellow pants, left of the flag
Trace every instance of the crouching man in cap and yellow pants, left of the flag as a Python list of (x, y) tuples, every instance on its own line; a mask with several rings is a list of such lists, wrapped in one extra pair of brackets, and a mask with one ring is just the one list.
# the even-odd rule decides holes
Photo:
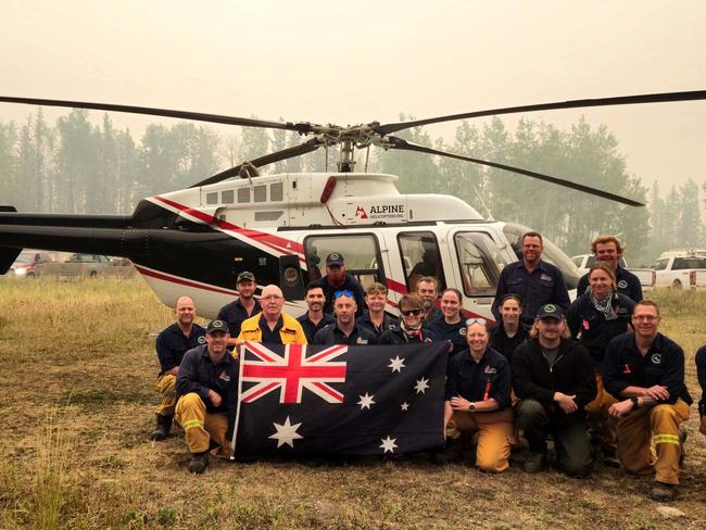
[(206, 343), (189, 350), (177, 376), (176, 420), (191, 453), (189, 471), (202, 474), (214, 456), (230, 457), (238, 402), (238, 361), (228, 352), (228, 324), (213, 320)]

